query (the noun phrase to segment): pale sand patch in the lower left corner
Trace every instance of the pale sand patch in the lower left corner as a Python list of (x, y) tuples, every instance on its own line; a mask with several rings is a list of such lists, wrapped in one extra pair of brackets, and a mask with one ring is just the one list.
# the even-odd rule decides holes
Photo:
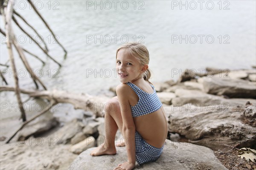
[[(1, 136), (11, 136), (19, 127), (17, 121), (1, 120)], [(26, 143), (1, 141), (0, 170), (67, 170), (78, 155), (68, 151), (70, 144), (55, 144), (56, 140), (50, 138), (54, 131), (43, 137), (30, 137)]]

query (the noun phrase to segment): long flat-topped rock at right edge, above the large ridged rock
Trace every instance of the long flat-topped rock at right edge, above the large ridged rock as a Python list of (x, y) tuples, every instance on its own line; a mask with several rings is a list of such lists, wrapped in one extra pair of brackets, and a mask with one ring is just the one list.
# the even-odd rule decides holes
[(230, 98), (256, 98), (254, 83), (242, 79), (202, 77), (198, 82), (204, 86), (204, 92), (215, 95), (226, 95)]

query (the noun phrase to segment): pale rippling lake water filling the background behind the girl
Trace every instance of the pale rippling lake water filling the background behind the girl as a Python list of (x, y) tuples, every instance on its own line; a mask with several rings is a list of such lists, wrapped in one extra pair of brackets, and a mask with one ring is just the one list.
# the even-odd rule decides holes
[[(105, 94), (118, 85), (115, 76), (116, 49), (129, 42), (141, 42), (150, 53), (151, 82), (177, 80), (186, 68), (206, 67), (249, 69), (256, 63), (256, 1), (85, 1), (37, 0), (38, 11), (52, 28), (68, 54), (54, 43), (44, 23), (26, 1), (15, 4), (17, 11), (44, 37), (49, 54), (61, 68), (12, 24), (24, 48), (47, 64), (26, 55), (29, 63), (49, 89), (72, 93)], [(102, 9), (101, 9), (102, 8)], [(186, 9), (187, 8), (187, 9)], [(36, 37), (19, 18), (19, 23)], [(3, 20), (1, 18), (1, 28)], [(40, 39), (37, 39), (40, 42)], [(1, 63), (8, 52), (1, 34)], [(41, 43), (43, 46), (43, 44)], [(35, 88), (15, 53), (21, 88)], [(1, 69), (5, 67), (1, 66)], [(14, 85), (9, 69), (7, 81)], [(176, 73), (177, 74), (174, 74)], [(3, 84), (2, 79), (0, 80)], [(12, 95), (9, 95), (12, 94)], [(13, 93), (1, 93), (1, 102), (15, 102)], [(8, 114), (8, 111), (1, 111)]]

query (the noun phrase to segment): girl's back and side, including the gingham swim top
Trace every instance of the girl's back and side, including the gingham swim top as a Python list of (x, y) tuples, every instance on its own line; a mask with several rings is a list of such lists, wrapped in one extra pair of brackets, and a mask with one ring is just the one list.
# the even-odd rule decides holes
[[(148, 144), (158, 148), (162, 147), (167, 137), (168, 127), (163, 105), (157, 97), (154, 86), (142, 79), (133, 83), (128, 82), (128, 85), (131, 87), (128, 88), (129, 94), (131, 94), (128, 99), (132, 108), (136, 131)], [(148, 101), (145, 101), (147, 99)], [(138, 104), (141, 106), (140, 110), (135, 108), (140, 107)], [(153, 112), (146, 111), (144, 114), (143, 111), (148, 105), (151, 105)], [(157, 108), (157, 105), (160, 108)], [(139, 115), (136, 115), (136, 111)]]

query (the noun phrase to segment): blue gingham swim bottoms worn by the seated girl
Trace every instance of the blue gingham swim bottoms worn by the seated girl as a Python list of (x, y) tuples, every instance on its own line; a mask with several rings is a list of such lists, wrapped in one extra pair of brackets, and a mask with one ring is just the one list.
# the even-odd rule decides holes
[(140, 133), (135, 131), (135, 151), (137, 163), (143, 164), (146, 162), (156, 161), (163, 152), (163, 147), (157, 148), (148, 144), (140, 136)]

